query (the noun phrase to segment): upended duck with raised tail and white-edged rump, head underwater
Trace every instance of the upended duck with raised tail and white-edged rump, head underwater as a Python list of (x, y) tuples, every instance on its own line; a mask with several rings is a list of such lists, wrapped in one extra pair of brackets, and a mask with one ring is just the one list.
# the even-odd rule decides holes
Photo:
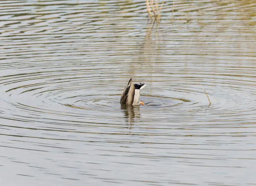
[(144, 103), (140, 101), (140, 90), (145, 86), (146, 84), (144, 83), (133, 84), (131, 78), (122, 93), (120, 103), (126, 105), (144, 105)]

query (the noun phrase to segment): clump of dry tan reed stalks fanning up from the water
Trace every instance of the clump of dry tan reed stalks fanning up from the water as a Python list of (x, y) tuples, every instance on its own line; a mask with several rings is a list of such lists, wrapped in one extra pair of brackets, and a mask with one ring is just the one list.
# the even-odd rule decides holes
[(159, 19), (161, 17), (161, 9), (163, 3), (159, 6), (160, 0), (146, 0), (148, 16), (154, 19)]

